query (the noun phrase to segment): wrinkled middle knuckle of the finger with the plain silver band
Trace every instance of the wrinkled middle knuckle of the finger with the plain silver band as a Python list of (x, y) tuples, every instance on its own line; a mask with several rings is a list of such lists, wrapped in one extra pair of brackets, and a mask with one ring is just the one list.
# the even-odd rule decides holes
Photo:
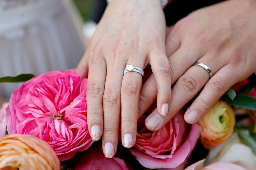
[(183, 87), (183, 89), (185, 89), (187, 92), (197, 93), (198, 85), (195, 78), (193, 78), (192, 75), (180, 77), (177, 83), (181, 85), (181, 87)]

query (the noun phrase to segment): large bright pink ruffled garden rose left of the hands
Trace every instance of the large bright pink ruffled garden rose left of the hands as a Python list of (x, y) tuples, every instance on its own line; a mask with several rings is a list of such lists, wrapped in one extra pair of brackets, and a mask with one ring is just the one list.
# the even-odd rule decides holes
[(51, 145), (60, 161), (93, 143), (87, 127), (87, 79), (69, 70), (38, 75), (13, 91), (6, 112), (9, 134), (28, 134)]

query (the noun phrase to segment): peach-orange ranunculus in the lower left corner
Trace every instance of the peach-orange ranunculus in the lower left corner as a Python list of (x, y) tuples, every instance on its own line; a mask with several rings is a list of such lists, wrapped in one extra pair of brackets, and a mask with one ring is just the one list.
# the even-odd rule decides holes
[(12, 134), (0, 138), (0, 170), (7, 169), (59, 170), (60, 161), (43, 140)]

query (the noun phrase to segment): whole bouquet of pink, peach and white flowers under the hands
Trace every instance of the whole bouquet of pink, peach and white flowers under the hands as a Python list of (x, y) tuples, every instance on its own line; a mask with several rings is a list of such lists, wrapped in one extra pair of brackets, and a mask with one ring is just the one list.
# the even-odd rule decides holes
[(25, 81), (0, 110), (0, 170), (255, 169), (255, 80), (228, 90), (195, 124), (186, 123), (180, 110), (150, 131), (146, 113), (138, 120), (135, 145), (120, 142), (116, 155), (106, 158), (101, 140), (88, 132), (86, 78), (74, 70), (0, 78)]

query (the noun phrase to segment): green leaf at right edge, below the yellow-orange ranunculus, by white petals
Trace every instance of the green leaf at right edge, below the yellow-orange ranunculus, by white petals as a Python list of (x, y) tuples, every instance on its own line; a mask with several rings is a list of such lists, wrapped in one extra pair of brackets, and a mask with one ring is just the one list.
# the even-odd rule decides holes
[(256, 155), (256, 141), (251, 136), (245, 134), (241, 129), (236, 127), (235, 130), (237, 131), (240, 140), (249, 146), (252, 149), (252, 152)]

